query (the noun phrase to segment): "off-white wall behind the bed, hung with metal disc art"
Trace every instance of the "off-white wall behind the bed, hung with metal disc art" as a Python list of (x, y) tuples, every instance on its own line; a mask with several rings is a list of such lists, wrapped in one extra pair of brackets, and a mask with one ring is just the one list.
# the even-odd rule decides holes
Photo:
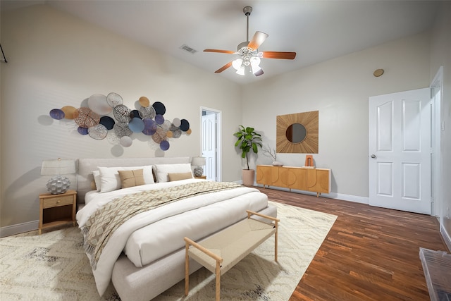
[(230, 133), (242, 120), (239, 85), (48, 6), (2, 12), (1, 45), (8, 59), (1, 63), (1, 227), (39, 219), (38, 195), (49, 179), (40, 176), (42, 159), (159, 156), (141, 133), (123, 148), (49, 117), (95, 93), (121, 94), (130, 109), (146, 96), (166, 105), (169, 120), (187, 119), (192, 134), (170, 140), (165, 156), (198, 155), (199, 107), (221, 110), (223, 180), (238, 179)]

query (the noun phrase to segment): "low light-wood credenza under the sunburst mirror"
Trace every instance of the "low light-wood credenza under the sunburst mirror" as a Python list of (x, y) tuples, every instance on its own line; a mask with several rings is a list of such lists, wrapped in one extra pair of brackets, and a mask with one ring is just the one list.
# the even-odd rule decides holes
[(330, 192), (330, 169), (257, 165), (257, 184), (316, 192)]

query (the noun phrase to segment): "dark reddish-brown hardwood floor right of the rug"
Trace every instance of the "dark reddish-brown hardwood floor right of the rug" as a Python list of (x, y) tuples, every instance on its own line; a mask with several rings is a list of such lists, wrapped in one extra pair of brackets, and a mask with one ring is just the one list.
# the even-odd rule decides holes
[(419, 248), (449, 252), (435, 217), (259, 190), (274, 202), (338, 216), (290, 300), (429, 300)]

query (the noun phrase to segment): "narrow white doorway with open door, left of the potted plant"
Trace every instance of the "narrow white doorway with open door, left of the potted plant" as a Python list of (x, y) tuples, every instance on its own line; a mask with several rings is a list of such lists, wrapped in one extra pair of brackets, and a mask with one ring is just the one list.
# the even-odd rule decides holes
[(205, 176), (221, 181), (221, 111), (201, 107), (202, 156)]

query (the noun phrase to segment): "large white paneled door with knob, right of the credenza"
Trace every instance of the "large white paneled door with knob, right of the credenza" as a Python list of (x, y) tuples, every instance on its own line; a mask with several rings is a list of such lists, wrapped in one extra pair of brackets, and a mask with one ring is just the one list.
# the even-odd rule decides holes
[(431, 90), (369, 98), (369, 204), (431, 214)]

